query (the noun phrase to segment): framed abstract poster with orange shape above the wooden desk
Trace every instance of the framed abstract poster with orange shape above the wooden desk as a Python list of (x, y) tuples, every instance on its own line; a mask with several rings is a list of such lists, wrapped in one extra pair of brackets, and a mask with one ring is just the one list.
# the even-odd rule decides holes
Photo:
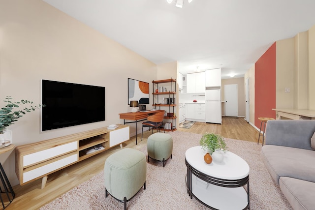
[(128, 105), (130, 101), (149, 104), (149, 83), (128, 78)]

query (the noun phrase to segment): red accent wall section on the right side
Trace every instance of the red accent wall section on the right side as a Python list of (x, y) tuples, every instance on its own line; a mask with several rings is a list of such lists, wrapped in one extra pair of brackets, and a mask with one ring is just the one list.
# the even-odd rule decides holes
[(259, 117), (276, 119), (276, 42), (255, 63), (255, 126)]

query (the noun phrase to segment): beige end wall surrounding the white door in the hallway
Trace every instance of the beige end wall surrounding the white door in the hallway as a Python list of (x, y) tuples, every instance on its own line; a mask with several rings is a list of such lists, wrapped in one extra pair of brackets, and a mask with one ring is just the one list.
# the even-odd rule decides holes
[[(241, 78), (231, 78), (221, 80), (221, 98), (224, 100), (224, 85), (237, 84), (237, 98), (238, 98), (238, 116), (245, 117), (245, 86), (244, 86), (244, 77)], [(225, 115), (224, 112), (224, 103), (222, 103), (222, 116)]]

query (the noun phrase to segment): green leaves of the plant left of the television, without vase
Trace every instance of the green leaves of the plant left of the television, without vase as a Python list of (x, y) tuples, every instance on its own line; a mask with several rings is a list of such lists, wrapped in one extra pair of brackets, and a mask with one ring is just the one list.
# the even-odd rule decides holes
[[(19, 120), (23, 115), (25, 115), (27, 112), (35, 111), (35, 109), (38, 109), (40, 107), (44, 107), (45, 105), (32, 105), (33, 102), (29, 100), (21, 100), (18, 102), (11, 101), (11, 96), (6, 96), (6, 105), (0, 109), (0, 134), (3, 133), (3, 130), (11, 125), (14, 124), (13, 122)], [(27, 105), (28, 107), (20, 108), (19, 105)], [(20, 110), (14, 110), (19, 109)]]

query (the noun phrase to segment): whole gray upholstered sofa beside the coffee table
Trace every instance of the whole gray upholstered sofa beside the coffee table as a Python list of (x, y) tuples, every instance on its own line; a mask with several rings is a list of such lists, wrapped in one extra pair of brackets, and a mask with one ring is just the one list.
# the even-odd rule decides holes
[(269, 120), (266, 125), (261, 157), (294, 210), (315, 210), (314, 132), (315, 120)]

